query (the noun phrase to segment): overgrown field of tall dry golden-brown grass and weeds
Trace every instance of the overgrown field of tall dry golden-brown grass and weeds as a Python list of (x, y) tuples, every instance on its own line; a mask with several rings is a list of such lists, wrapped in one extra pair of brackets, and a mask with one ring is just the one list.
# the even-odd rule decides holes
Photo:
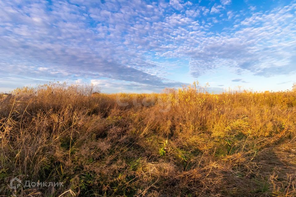
[(0, 195), (296, 196), (296, 92), (93, 91), (0, 98)]

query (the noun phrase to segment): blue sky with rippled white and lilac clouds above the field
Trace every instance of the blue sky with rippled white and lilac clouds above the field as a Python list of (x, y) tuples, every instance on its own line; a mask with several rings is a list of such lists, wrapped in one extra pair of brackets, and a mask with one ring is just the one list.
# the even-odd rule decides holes
[(296, 1), (0, 0), (0, 92), (53, 80), (107, 93), (291, 89)]

